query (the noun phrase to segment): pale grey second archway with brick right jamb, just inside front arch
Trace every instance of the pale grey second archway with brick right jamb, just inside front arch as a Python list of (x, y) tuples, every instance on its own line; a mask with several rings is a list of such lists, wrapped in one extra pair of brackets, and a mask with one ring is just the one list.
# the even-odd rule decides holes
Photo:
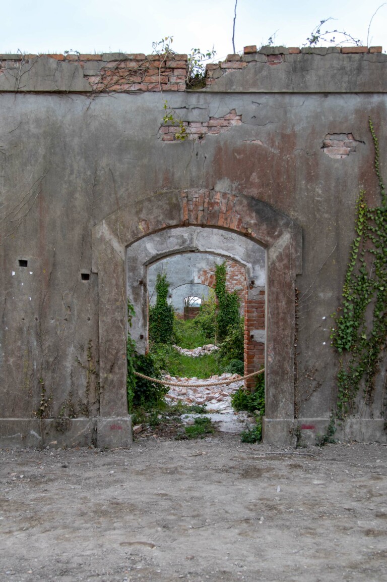
[[(157, 256), (155, 257), (155, 249)], [(200, 265), (207, 273), (206, 282), (212, 283), (214, 269), (207, 268), (209, 257), (220, 264), (224, 260), (241, 267), (243, 283), (243, 311), (245, 315), (245, 373), (259, 370), (265, 360), (266, 344), (266, 249), (248, 237), (220, 229), (183, 226), (163, 230), (143, 237), (127, 247), (127, 297), (134, 306), (131, 336), (137, 349), (148, 349), (148, 296), (153, 294), (157, 266), (171, 279), (178, 281), (182, 257), (192, 256), (193, 270)], [(196, 260), (194, 260), (196, 259)], [(148, 289), (149, 277), (152, 287)], [(197, 271), (201, 273), (202, 271)], [(134, 281), (142, 281), (137, 293)], [(254, 380), (249, 384), (252, 387)]]

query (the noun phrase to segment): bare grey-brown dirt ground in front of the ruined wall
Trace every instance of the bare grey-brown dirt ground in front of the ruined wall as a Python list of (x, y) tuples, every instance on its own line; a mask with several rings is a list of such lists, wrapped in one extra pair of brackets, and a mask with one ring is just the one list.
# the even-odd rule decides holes
[(387, 581), (387, 446), (1, 450), (0, 580)]

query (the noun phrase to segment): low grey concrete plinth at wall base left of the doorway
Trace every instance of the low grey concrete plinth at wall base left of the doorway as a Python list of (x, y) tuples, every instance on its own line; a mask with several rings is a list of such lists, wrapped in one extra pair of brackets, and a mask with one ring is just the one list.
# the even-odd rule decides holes
[(0, 448), (72, 448), (94, 445), (112, 449), (132, 443), (131, 417), (0, 418)]

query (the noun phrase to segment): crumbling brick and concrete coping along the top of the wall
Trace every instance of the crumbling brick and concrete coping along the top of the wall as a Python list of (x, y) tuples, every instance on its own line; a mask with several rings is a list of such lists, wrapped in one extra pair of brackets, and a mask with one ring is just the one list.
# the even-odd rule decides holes
[[(317, 59), (313, 69), (310, 58)], [(205, 84), (195, 90), (384, 93), (387, 76), (380, 65), (386, 63), (382, 47), (249, 45), (242, 55), (207, 64)], [(0, 92), (187, 91), (187, 74), (188, 56), (179, 54), (0, 54)]]

